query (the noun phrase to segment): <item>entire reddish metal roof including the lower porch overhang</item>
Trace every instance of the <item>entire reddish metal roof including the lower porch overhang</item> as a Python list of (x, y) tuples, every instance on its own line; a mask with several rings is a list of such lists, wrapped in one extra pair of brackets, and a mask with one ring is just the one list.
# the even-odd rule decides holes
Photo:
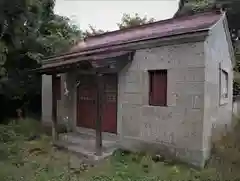
[[(53, 69), (54, 67), (68, 66), (82, 60), (99, 59), (99, 55), (109, 54), (116, 56), (116, 47), (129, 45), (151, 39), (178, 36), (196, 32), (208, 31), (223, 16), (219, 12), (207, 12), (192, 16), (173, 18), (150, 24), (140, 25), (123, 30), (107, 32), (88, 38), (71, 49), (71, 52), (49, 57), (39, 70)], [(111, 55), (110, 50), (114, 55)], [(97, 56), (95, 56), (97, 55)]]

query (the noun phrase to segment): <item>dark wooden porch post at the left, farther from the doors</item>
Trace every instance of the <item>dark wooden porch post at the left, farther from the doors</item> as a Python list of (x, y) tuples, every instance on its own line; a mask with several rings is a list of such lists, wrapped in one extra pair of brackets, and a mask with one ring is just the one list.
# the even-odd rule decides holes
[(52, 139), (58, 140), (57, 133), (57, 97), (56, 97), (56, 74), (52, 74)]

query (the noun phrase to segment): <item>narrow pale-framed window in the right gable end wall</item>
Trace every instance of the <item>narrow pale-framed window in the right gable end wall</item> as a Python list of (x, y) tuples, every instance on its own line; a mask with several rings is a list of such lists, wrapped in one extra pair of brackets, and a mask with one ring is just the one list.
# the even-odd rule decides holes
[(222, 100), (228, 98), (228, 73), (220, 69), (220, 103), (224, 103)]

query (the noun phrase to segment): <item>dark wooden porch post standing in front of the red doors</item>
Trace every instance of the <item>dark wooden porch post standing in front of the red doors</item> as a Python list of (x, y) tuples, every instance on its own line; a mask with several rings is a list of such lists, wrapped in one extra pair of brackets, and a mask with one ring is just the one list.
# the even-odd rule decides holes
[(96, 155), (102, 155), (102, 74), (96, 74), (97, 119), (96, 119)]

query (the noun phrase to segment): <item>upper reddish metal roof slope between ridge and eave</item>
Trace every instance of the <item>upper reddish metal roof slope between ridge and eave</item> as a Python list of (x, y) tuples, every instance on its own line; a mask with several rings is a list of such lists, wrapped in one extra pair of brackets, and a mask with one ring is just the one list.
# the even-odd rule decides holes
[(88, 38), (84, 46), (79, 46), (82, 45), (80, 42), (79, 45), (73, 47), (73, 50), (74, 52), (80, 52), (141, 39), (163, 38), (209, 29), (221, 16), (222, 14), (218, 12), (207, 12), (108, 32)]

